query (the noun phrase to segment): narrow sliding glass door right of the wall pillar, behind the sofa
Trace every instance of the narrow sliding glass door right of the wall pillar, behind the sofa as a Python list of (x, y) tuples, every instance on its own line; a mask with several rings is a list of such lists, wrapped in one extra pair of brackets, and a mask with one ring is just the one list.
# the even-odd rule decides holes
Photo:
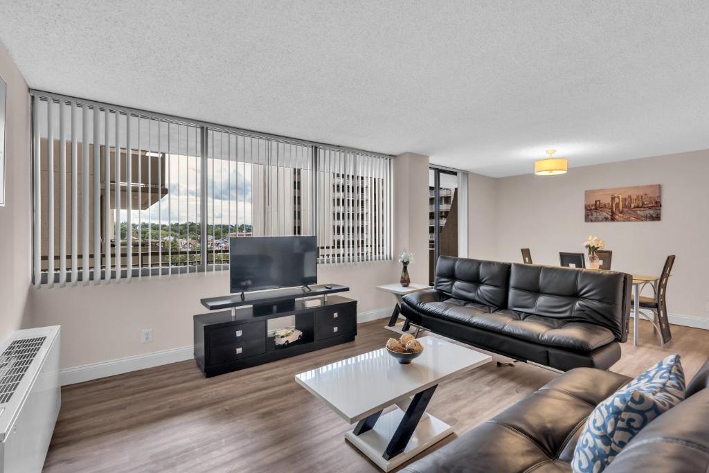
[(458, 174), (428, 170), (428, 282), (440, 255), (458, 256)]

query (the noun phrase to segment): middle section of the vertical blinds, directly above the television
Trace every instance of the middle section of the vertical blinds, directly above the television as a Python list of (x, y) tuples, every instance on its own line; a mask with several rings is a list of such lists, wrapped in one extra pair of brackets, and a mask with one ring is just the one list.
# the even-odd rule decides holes
[(207, 261), (226, 267), (223, 235), (313, 235), (313, 147), (207, 130)]

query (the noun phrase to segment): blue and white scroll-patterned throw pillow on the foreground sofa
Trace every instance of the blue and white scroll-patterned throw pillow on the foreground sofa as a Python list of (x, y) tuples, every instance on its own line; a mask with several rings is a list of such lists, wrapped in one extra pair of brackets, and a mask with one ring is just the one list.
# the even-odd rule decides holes
[(670, 355), (598, 404), (576, 443), (574, 473), (600, 473), (654, 418), (684, 399), (679, 355)]

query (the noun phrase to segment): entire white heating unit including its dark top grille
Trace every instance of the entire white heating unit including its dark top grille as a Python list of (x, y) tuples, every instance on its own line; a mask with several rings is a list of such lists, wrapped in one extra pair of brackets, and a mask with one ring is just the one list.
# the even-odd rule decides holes
[(61, 405), (60, 327), (0, 344), (0, 473), (41, 472)]

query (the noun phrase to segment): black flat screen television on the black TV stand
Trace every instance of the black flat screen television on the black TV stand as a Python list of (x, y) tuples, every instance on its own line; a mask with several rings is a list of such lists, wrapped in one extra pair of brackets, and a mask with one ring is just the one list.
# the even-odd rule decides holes
[(230, 238), (229, 273), (232, 292), (316, 284), (317, 237)]

